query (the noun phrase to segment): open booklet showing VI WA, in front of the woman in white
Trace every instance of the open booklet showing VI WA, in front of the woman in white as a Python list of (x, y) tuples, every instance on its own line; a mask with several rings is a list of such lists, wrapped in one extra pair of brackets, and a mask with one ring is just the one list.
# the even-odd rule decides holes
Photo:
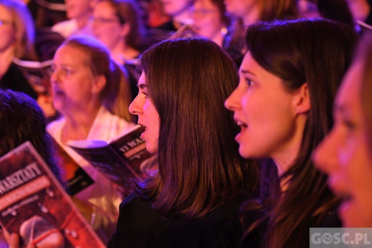
[(70, 140), (67, 145), (84, 157), (112, 182), (131, 188), (141, 176), (141, 164), (152, 155), (141, 138), (144, 127), (135, 125), (124, 135), (107, 143), (102, 140)]

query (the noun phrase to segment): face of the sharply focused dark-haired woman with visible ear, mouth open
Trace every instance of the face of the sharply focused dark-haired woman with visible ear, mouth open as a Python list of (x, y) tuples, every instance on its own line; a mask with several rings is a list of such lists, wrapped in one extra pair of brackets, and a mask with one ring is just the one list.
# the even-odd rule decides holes
[(238, 87), (225, 101), (241, 127), (235, 137), (244, 158), (273, 158), (293, 152), (299, 137), (294, 108), (295, 94), (289, 93), (278, 76), (262, 68), (248, 52), (239, 69)]

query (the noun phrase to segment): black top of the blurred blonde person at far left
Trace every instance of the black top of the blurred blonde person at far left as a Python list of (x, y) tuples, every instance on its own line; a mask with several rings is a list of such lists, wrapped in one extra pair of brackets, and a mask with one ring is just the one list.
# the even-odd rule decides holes
[(37, 98), (36, 92), (33, 90), (17, 65), (11, 63), (8, 70), (0, 80), (1, 89), (11, 89), (26, 93), (33, 99)]

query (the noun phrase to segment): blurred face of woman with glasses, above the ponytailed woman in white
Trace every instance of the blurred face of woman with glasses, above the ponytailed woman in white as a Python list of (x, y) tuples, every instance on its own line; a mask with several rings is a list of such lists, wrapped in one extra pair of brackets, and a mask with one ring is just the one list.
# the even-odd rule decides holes
[(110, 2), (100, 1), (95, 5), (92, 21), (94, 36), (110, 50), (114, 49), (122, 39), (124, 40), (123, 26)]

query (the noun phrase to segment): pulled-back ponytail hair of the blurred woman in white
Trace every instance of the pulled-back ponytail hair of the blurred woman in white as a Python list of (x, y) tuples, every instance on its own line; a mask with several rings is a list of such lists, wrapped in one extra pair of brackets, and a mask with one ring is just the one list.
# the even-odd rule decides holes
[(93, 76), (104, 75), (105, 88), (101, 91), (102, 104), (113, 114), (133, 121), (128, 108), (132, 99), (129, 81), (124, 68), (114, 62), (110, 52), (100, 41), (88, 36), (72, 36), (61, 46), (72, 46), (82, 50), (87, 56), (87, 64)]

